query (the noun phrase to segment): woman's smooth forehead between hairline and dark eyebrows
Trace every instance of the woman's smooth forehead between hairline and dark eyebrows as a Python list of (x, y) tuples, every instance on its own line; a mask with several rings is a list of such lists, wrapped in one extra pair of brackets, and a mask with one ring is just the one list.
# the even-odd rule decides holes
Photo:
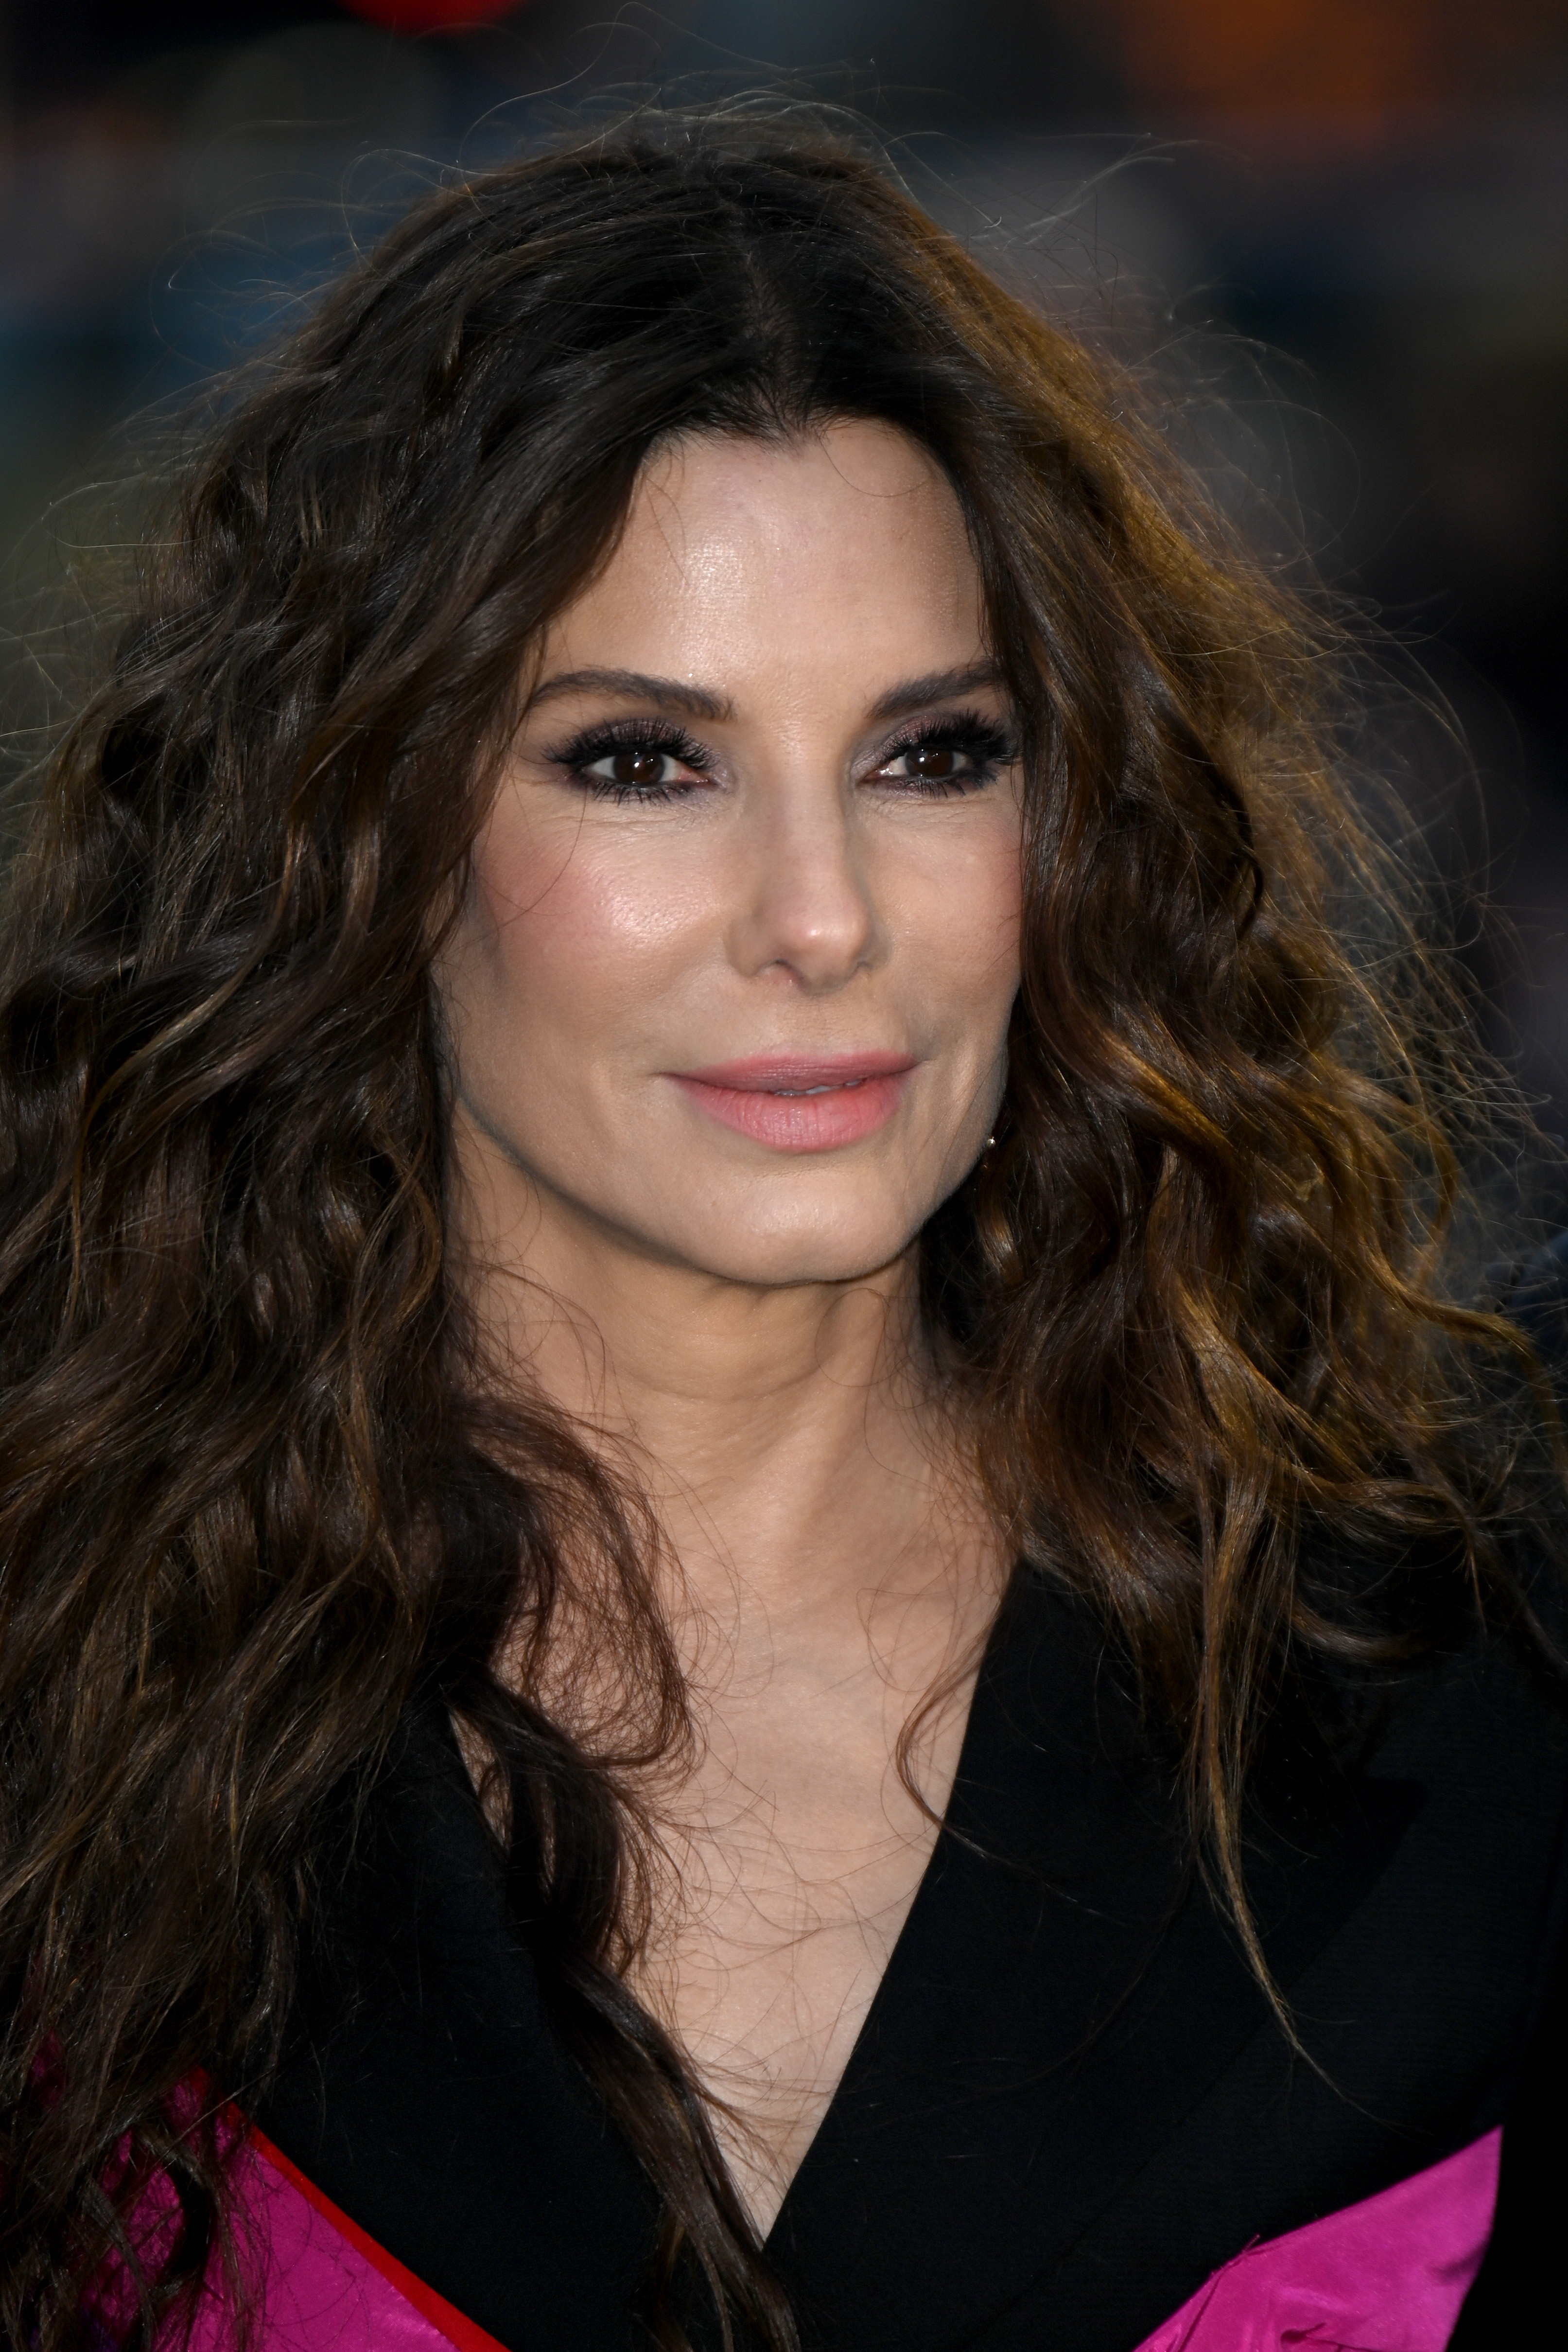
[(604, 572), (555, 623), (557, 663), (717, 684), (745, 673), (943, 668), (983, 652), (980, 572), (952, 485), (891, 426), (696, 435), (646, 466)]

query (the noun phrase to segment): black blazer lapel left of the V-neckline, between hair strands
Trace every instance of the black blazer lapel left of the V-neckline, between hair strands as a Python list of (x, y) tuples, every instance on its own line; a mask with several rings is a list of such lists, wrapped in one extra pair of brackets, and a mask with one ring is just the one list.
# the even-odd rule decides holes
[(515, 2352), (630, 2352), (656, 2199), (545, 2013), (456, 1743), (414, 1710), (256, 2122)]

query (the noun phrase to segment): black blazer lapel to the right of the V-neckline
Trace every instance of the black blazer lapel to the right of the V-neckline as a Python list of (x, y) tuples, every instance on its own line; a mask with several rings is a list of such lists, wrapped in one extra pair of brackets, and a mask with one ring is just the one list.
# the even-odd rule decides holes
[[(1361, 1780), (1309, 1830), (1255, 1839), (1281, 1985), (1420, 1804), (1410, 1783)], [(1260, 2027), (1279, 2030), (1182, 1865), (1173, 1790), (1093, 1628), (1065, 1599), (1020, 1597), (931, 1870), (769, 2239), (806, 2343), (924, 2352), (983, 2333)]]

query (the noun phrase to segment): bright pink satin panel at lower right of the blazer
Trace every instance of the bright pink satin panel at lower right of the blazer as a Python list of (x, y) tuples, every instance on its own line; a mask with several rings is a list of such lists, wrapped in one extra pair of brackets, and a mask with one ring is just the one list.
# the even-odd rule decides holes
[(1502, 2131), (1248, 2246), (1138, 2352), (1443, 2352), (1497, 2206)]

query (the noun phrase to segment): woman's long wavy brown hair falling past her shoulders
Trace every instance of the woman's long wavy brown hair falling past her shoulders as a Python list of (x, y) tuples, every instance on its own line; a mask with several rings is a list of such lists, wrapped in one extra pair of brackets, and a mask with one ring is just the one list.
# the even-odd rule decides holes
[[(651, 2336), (684, 2343), (705, 2279), (726, 2328), (795, 2340), (628, 1992), (639, 1773), (684, 1724), (656, 1529), (487, 1376), (433, 957), (524, 654), (649, 452), (846, 416), (952, 482), (1027, 750), (1011, 1080), (924, 1235), (926, 1315), (999, 1524), (1135, 1663), (1241, 1922), (1291, 1661), (1410, 1649), (1439, 1588), (1507, 1590), (1519, 1381), (1446, 1270), (1493, 1080), (1356, 818), (1335, 630), (1133, 379), (853, 136), (642, 118), (442, 188), (216, 407), (9, 894), (12, 2345), (87, 2340), (115, 2258), (150, 2343), (221, 2256), (214, 2114), (275, 2058), (329, 1825), (418, 1696), (498, 1762), (541, 1980), (661, 2190)], [(567, 1623), (625, 1668), (592, 1736), (543, 1696)], [(181, 2216), (158, 2260), (153, 2176)]]

